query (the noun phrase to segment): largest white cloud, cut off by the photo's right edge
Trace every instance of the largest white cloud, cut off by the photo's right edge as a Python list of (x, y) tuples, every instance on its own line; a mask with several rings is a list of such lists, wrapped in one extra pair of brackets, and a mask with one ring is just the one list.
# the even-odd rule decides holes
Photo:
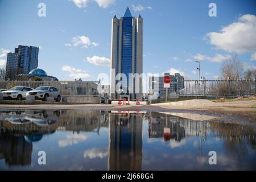
[(255, 32), (256, 16), (246, 14), (236, 22), (221, 28), (220, 32), (210, 32), (206, 37), (217, 49), (236, 53), (254, 53), (256, 51)]

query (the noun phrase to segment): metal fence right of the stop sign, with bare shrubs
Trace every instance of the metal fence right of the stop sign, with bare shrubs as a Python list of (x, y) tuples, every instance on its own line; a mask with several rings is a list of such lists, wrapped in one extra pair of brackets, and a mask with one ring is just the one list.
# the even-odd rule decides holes
[(179, 96), (239, 97), (256, 94), (254, 80), (185, 80)]

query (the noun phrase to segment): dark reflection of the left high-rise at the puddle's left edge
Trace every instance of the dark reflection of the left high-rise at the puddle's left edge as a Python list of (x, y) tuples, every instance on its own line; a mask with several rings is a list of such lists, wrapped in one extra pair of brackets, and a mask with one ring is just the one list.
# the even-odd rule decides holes
[(0, 159), (6, 164), (27, 166), (31, 164), (32, 142), (23, 135), (13, 135), (10, 131), (0, 131)]

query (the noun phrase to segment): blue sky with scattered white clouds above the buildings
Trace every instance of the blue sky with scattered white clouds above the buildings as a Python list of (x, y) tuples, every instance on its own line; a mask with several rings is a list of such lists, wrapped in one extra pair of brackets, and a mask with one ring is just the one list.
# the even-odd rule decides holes
[[(209, 3), (217, 17), (210, 17)], [(38, 16), (38, 4), (46, 16)], [(97, 80), (109, 74), (111, 22), (143, 18), (143, 72), (180, 72), (217, 78), (221, 64), (238, 55), (256, 69), (256, 1), (246, 0), (0, 0), (0, 67), (19, 44), (40, 46), (39, 68), (60, 80)]]

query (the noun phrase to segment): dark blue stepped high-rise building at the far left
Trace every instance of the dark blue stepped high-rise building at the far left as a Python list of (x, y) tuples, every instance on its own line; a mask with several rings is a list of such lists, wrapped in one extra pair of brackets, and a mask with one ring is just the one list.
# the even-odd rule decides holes
[(15, 48), (15, 53), (7, 55), (6, 80), (14, 80), (16, 75), (28, 74), (32, 69), (38, 68), (38, 53), (39, 48), (34, 46), (19, 45)]

